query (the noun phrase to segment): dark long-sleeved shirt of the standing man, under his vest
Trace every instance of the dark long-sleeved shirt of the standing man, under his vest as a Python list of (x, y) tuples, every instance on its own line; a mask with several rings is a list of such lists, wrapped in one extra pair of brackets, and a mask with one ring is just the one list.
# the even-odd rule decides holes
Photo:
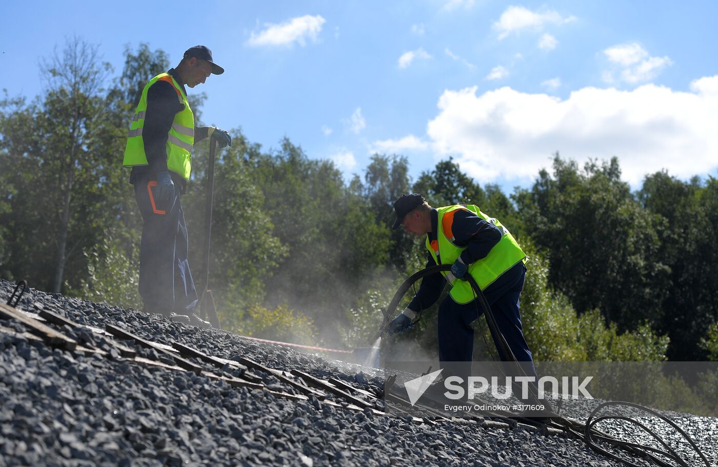
[[(185, 83), (182, 82), (177, 70), (171, 68), (168, 73), (182, 86), (182, 92), (187, 95)], [(145, 176), (157, 176), (159, 172), (167, 171), (167, 136), (172, 128), (174, 115), (184, 110), (185, 105), (177, 98), (177, 91), (167, 81), (159, 80), (147, 90), (147, 110), (142, 127), (142, 141), (144, 141), (144, 154), (147, 156), (147, 166), (134, 166), (130, 172), (130, 183)], [(195, 126), (195, 143), (207, 138), (208, 127)], [(187, 181), (174, 172), (169, 172), (172, 181), (181, 192), (185, 192)]]

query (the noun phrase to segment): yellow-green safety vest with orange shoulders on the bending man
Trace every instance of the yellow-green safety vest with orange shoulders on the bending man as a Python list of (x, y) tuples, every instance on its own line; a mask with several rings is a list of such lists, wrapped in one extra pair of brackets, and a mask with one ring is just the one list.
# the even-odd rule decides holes
[[(488, 217), (474, 205), (464, 206), (456, 204), (454, 206), (437, 208), (437, 240), (429, 243), (426, 238), (426, 249), (431, 253), (432, 258), (437, 264), (454, 264), (459, 255), (466, 250), (466, 247), (457, 247), (454, 245), (454, 234), (452, 232), (452, 224), (454, 222), (454, 214), (459, 209), (467, 209), (486, 222), (490, 222), (501, 232), (501, 240), (494, 245), (489, 254), (485, 258), (475, 261), (469, 265), (469, 273), (476, 280), (481, 290), (484, 290), (493, 283), (500, 275), (512, 268), (517, 263), (526, 260), (526, 254), (523, 253), (521, 247), (513, 238), (513, 235), (501, 225), (498, 220)], [(449, 283), (452, 283), (450, 295), (457, 303), (469, 303), (475, 298), (474, 291), (470, 284), (465, 280), (454, 278), (450, 272), (442, 273)]]

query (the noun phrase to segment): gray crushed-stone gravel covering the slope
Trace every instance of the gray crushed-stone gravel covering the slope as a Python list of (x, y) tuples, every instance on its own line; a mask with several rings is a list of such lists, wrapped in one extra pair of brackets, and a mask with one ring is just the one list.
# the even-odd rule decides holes
[[(6, 301), (12, 288), (0, 280), (0, 300)], [(179, 341), (218, 357), (247, 357), (277, 369), (337, 377), (365, 390), (383, 385), (381, 370), (258, 344), (217, 329), (172, 324), (132, 309), (33, 289), (19, 307), (32, 311), (33, 302), (80, 324), (115, 324), (149, 340)], [(10, 321), (0, 326), (24, 331)], [(63, 331), (110, 349), (86, 330)], [(156, 357), (154, 351), (140, 353)], [(561, 436), (461, 423), (428, 425), (370, 410), (337, 409), (313, 398), (297, 402), (114, 357), (85, 357), (0, 332), (0, 467), (623, 465)], [(228, 367), (225, 372), (241, 373)], [(292, 392), (278, 379), (264, 377), (273, 389)], [(382, 402), (376, 407), (381, 409)], [(718, 465), (717, 420), (677, 421)]]

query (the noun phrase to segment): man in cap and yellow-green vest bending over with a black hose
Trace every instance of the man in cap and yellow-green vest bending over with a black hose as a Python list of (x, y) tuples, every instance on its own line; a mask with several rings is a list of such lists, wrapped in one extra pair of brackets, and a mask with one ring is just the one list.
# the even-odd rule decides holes
[[(471, 362), (474, 330), (470, 324), (483, 312), (474, 291), (465, 280), (471, 275), (488, 301), (498, 329), (508, 342), (526, 374), (536, 376), (531, 351), (521, 327), (518, 297), (526, 278), (526, 255), (498, 220), (474, 205), (434, 208), (420, 194), (402, 194), (394, 202), (396, 222), (406, 232), (426, 235), (429, 261), (426, 267), (451, 264), (451, 273), (427, 275), (404, 311), (389, 326), (390, 334), (403, 333), (417, 313), (439, 299), (449, 280), (449, 296), (439, 305), (439, 359), (444, 362)], [(455, 279), (454, 279), (455, 278)], [(499, 357), (507, 361), (499, 347)], [(528, 371), (527, 371), (528, 370)]]

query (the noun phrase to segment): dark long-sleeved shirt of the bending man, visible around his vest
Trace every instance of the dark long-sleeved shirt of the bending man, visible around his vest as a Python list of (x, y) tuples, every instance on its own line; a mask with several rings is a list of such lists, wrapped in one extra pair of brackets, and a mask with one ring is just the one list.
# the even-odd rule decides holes
[[(429, 243), (433, 240), (437, 240), (437, 232), (439, 230), (439, 213), (437, 209), (432, 207), (429, 214), (432, 220), (432, 231), (429, 232)], [(454, 234), (454, 245), (457, 247), (466, 247), (461, 253), (461, 260), (466, 265), (470, 265), (477, 260), (486, 258), (491, 249), (501, 240), (501, 232), (498, 227), (486, 222), (481, 217), (478, 217), (473, 212), (467, 209), (460, 209), (454, 214), (454, 220), (452, 222), (452, 233)], [(439, 252), (440, 253), (440, 252)], [(428, 260), (426, 261), (426, 268), (436, 265), (431, 253), (427, 253)], [(495, 280), (490, 288), (500, 286), (501, 278)], [(421, 286), (419, 291), (416, 292), (416, 296), (409, 303), (409, 308), (412, 311), (421, 311), (429, 306), (432, 306), (441, 296), (444, 286), (447, 285), (447, 280), (441, 273), (427, 275), (421, 280)]]

